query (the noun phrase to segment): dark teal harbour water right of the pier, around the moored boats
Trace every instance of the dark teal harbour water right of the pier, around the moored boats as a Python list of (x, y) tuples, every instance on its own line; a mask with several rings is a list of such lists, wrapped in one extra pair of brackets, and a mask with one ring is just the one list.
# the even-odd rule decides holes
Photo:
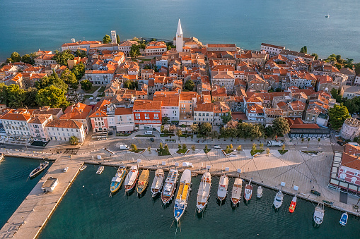
[[(342, 212), (329, 208), (325, 209), (323, 224), (314, 228), (315, 204), (298, 200), (294, 214), (290, 214), (289, 195), (285, 195), (284, 204), (275, 212), (272, 202), (276, 192), (268, 189), (264, 189), (260, 200), (253, 197), (244, 204), (242, 199), (237, 209), (231, 208), (229, 197), (220, 206), (216, 202), (219, 177), (212, 179), (206, 212), (198, 215), (195, 204), (199, 176), (192, 178), (192, 192), (180, 219), (180, 231), (173, 223), (173, 202), (162, 207), (160, 198), (151, 198), (149, 188), (141, 198), (137, 192), (125, 196), (123, 187), (109, 197), (116, 169), (105, 167), (100, 176), (96, 170), (97, 166), (89, 165), (79, 174), (40, 238), (352, 238), (360, 233), (359, 218), (349, 216), (347, 226), (341, 228), (338, 221)], [(153, 171), (150, 176), (152, 182)], [(228, 192), (232, 185), (231, 178)]]

